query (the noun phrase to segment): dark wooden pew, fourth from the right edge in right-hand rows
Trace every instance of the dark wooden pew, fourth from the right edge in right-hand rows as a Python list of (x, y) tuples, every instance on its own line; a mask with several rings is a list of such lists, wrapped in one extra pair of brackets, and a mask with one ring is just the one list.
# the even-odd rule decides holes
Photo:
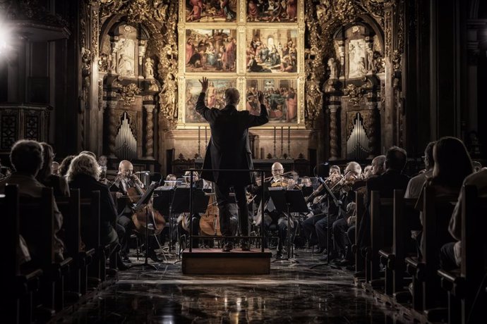
[(371, 247), (366, 253), (366, 280), (372, 287), (383, 285), (380, 279), (379, 250), (386, 246), (385, 235), (392, 232), (392, 198), (380, 198), (371, 192)]

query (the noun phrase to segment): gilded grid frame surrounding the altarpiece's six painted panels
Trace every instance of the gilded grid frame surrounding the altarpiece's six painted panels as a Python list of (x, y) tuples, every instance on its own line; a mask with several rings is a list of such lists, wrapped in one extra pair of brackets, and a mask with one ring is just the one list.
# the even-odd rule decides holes
[[(236, 88), (239, 89), (241, 93), (241, 101), (239, 104), (239, 110), (246, 109), (246, 87), (248, 80), (277, 80), (277, 82), (282, 82), (282, 80), (291, 80), (296, 84), (296, 96), (297, 96), (297, 106), (296, 106), (296, 118), (293, 118), (289, 123), (286, 121), (282, 123), (267, 123), (259, 128), (270, 129), (276, 125), (293, 126), (299, 129), (305, 128), (304, 120), (304, 87), (306, 82), (306, 74), (304, 71), (304, 32), (306, 25), (304, 23), (304, 1), (297, 0), (297, 12), (296, 21), (292, 23), (283, 22), (273, 22), (265, 23), (263, 21), (246, 21), (246, 0), (237, 0), (236, 12), (237, 18), (235, 22), (187, 22), (186, 21), (186, 1), (179, 0), (179, 23), (178, 23), (178, 42), (179, 42), (179, 61), (178, 61), (178, 123), (176, 124), (176, 129), (180, 130), (194, 130), (198, 126), (208, 125), (205, 121), (201, 123), (200, 121), (195, 122), (191, 120), (190, 116), (187, 116), (186, 109), (186, 85), (187, 80), (196, 80), (196, 82), (203, 76), (207, 76), (211, 80), (234, 80)], [(191, 29), (211, 29), (211, 30), (236, 30), (236, 71), (235, 72), (201, 72), (201, 71), (188, 71), (186, 70), (186, 30)], [(296, 30), (296, 56), (297, 56), (297, 68), (295, 72), (283, 72), (283, 73), (249, 73), (246, 69), (246, 47), (247, 47), (247, 37), (248, 33), (252, 33), (252, 30), (281, 30), (287, 32), (288, 30)], [(196, 84), (199, 87), (199, 82)]]

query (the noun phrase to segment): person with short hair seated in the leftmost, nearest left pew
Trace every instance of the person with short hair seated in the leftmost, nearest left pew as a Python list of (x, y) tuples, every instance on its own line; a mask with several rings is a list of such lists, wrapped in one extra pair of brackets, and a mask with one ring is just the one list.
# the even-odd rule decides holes
[[(43, 163), (42, 147), (38, 142), (21, 139), (13, 144), (10, 152), (10, 161), (15, 172), (0, 180), (0, 194), (5, 193), (6, 185), (18, 185), (20, 197), (42, 197), (42, 189), (45, 188), (35, 176)], [(56, 262), (64, 260), (64, 243), (59, 239), (57, 233), (63, 225), (63, 216), (54, 201), (54, 257)], [(28, 243), (28, 250), (32, 260), (36, 259), (35, 237), (24, 237)], [(27, 256), (25, 256), (27, 258)]]

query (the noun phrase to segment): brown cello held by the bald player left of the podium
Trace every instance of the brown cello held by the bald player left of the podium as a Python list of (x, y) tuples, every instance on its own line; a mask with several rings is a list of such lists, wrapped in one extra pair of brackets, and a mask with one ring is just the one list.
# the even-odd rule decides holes
[[(128, 200), (133, 204), (132, 222), (136, 227), (136, 231), (140, 234), (145, 232), (145, 228), (148, 227), (147, 220), (150, 224), (148, 229), (153, 230), (155, 235), (159, 235), (162, 229), (166, 225), (166, 220), (159, 211), (156, 211), (152, 206), (152, 197), (148, 199), (154, 192), (156, 183), (153, 182), (147, 191), (141, 188), (134, 182), (133, 187), (127, 189)], [(138, 201), (136, 198), (140, 197)], [(153, 228), (151, 228), (151, 225)]]

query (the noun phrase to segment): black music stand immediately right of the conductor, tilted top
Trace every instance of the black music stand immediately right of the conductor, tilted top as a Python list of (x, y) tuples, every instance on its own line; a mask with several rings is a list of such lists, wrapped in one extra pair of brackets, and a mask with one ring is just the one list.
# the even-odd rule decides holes
[[(286, 190), (282, 188), (269, 188), (269, 195), (277, 211), (287, 211), (287, 258), (277, 258), (274, 261), (287, 260), (299, 263), (291, 254), (291, 213), (308, 212), (301, 190)], [(272, 262), (274, 262), (272, 261)]]

